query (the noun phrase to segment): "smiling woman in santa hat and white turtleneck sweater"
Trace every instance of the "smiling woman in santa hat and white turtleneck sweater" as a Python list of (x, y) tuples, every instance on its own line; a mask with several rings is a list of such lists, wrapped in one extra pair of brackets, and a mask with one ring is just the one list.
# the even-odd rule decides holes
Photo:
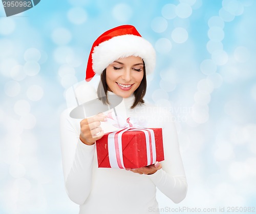
[(180, 157), (172, 115), (145, 103), (146, 74), (155, 67), (155, 50), (135, 27), (119, 26), (103, 33), (94, 42), (86, 80), (101, 76), (98, 97), (123, 98), (127, 116), (144, 127), (161, 127), (165, 160), (135, 169), (98, 168), (95, 141), (104, 131), (104, 114), (81, 121), (61, 116), (62, 162), (67, 193), (84, 213), (159, 213), (156, 187), (173, 202), (186, 196), (187, 183)]

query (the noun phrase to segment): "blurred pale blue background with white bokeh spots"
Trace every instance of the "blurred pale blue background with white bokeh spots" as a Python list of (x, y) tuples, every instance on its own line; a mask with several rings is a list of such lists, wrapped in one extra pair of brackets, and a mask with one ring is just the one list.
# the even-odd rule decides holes
[(173, 112), (179, 134), (188, 193), (174, 204), (158, 192), (162, 213), (255, 206), (255, 10), (253, 0), (41, 0), (6, 17), (1, 3), (0, 212), (78, 213), (63, 184), (59, 115), (93, 41), (122, 24), (155, 47), (146, 99)]

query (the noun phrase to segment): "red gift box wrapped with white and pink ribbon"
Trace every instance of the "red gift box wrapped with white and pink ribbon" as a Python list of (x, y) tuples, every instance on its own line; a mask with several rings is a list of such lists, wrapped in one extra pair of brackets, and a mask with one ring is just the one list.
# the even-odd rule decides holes
[(127, 128), (96, 141), (98, 167), (139, 168), (164, 160), (162, 129)]

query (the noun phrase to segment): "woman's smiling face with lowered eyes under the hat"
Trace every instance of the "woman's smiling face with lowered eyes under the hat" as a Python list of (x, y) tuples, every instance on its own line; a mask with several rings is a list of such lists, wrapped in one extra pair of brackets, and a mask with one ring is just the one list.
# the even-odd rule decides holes
[(123, 98), (138, 89), (143, 78), (143, 61), (137, 56), (120, 58), (106, 68), (108, 90)]

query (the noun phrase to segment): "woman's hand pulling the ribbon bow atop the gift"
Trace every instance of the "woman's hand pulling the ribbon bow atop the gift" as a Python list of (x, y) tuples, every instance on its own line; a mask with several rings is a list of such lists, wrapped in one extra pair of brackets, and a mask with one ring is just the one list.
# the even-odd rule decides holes
[(81, 120), (80, 140), (84, 144), (93, 145), (96, 140), (104, 135), (104, 132), (100, 127), (101, 121), (106, 121), (106, 116), (102, 113)]

